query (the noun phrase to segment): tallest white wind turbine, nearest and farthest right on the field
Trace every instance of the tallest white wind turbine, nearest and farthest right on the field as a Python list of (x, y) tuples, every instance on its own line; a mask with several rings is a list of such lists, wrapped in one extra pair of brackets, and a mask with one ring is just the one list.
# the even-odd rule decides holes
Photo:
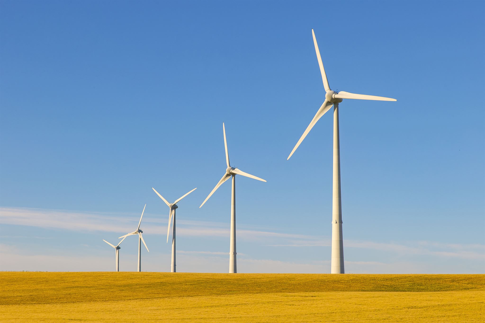
[(339, 143), (339, 103), (342, 99), (359, 99), (359, 100), (377, 100), (377, 101), (397, 101), (382, 96), (355, 94), (350, 92), (335, 92), (330, 90), (327, 76), (323, 69), (322, 57), (320, 57), (320, 50), (318, 49), (315, 32), (311, 30), (313, 35), (313, 44), (315, 45), (315, 52), (317, 53), (318, 65), (320, 66), (320, 73), (322, 74), (323, 87), (325, 88), (325, 101), (318, 109), (317, 114), (307, 126), (307, 129), (296, 143), (287, 159), (295, 152), (296, 148), (301, 144), (303, 139), (307, 137), (308, 132), (313, 128), (315, 123), (322, 118), (332, 105), (334, 106), (334, 132), (333, 132), (333, 194), (332, 194), (332, 262), (331, 273), (343, 274), (343, 240), (342, 240), (342, 201), (340, 197), (340, 143)]

